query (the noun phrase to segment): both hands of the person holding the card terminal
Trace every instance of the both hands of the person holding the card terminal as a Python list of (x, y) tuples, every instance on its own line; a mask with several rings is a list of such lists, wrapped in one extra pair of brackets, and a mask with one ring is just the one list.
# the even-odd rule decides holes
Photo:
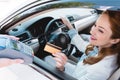
[[(19, 38), (15, 36), (9, 36), (9, 35), (0, 35), (1, 37), (6, 37), (6, 38), (11, 38), (13, 40), (19, 40)], [(2, 50), (2, 47), (0, 46), (0, 50)], [(0, 68), (6, 67), (12, 64), (18, 64), (18, 63), (23, 63), (24, 60), (22, 59), (9, 59), (9, 58), (0, 58)]]

